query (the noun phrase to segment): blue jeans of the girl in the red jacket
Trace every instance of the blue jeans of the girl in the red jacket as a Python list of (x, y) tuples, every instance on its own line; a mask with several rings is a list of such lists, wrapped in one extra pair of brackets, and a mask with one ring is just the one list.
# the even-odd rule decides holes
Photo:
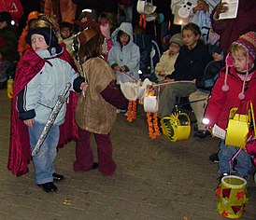
[(239, 154), (236, 156), (236, 164), (235, 167), (230, 166), (230, 160), (235, 156), (235, 153), (239, 150), (238, 147), (225, 145), (224, 141), (220, 142), (220, 151), (219, 151), (219, 173), (222, 174), (224, 172), (236, 172), (237, 175), (249, 179), (249, 172), (251, 169), (251, 160), (250, 155), (246, 153), (244, 150), (241, 150)]

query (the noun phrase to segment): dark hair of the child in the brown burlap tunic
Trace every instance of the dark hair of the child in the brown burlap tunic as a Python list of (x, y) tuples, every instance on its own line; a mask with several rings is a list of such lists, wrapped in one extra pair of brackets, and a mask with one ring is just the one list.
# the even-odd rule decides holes
[(98, 57), (102, 52), (102, 44), (104, 38), (102, 34), (95, 34), (86, 44), (80, 45), (78, 50), (78, 56), (81, 60), (86, 57), (86, 60), (89, 60), (93, 57)]

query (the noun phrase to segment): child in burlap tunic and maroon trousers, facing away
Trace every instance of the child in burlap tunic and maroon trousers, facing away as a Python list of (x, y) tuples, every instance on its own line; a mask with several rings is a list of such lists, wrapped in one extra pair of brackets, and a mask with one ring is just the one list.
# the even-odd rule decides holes
[[(89, 87), (85, 96), (78, 97), (76, 121), (79, 139), (74, 171), (88, 172), (98, 167), (99, 172), (111, 176), (116, 170), (116, 163), (112, 157), (109, 132), (117, 117), (116, 107), (125, 109), (127, 103), (121, 95), (121, 90), (117, 88), (115, 74), (101, 58), (103, 36), (100, 31), (86, 29), (76, 37), (80, 42), (79, 60), (84, 61), (82, 69)], [(93, 162), (90, 146), (92, 133), (97, 143), (98, 163)]]

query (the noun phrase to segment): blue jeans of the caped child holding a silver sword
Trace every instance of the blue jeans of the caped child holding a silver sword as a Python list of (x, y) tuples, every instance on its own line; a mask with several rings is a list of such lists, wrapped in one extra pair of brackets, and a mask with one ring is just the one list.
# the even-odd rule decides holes
[[(29, 128), (29, 138), (31, 149), (36, 146), (36, 142), (43, 131), (45, 124), (35, 122), (33, 128)], [(59, 142), (59, 126), (53, 125), (42, 144), (38, 154), (33, 157), (35, 166), (36, 184), (45, 184), (53, 181), (52, 173), (54, 172), (53, 161), (57, 155), (57, 144)]]

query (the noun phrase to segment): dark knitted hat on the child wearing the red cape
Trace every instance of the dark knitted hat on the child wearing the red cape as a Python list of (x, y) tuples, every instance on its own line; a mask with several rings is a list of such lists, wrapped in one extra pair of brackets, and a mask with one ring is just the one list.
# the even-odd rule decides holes
[(31, 46), (31, 36), (33, 34), (40, 34), (45, 37), (46, 44), (51, 48), (58, 48), (58, 38), (55, 35), (54, 31), (51, 28), (43, 27), (43, 28), (34, 28), (29, 30), (26, 36), (26, 42)]

